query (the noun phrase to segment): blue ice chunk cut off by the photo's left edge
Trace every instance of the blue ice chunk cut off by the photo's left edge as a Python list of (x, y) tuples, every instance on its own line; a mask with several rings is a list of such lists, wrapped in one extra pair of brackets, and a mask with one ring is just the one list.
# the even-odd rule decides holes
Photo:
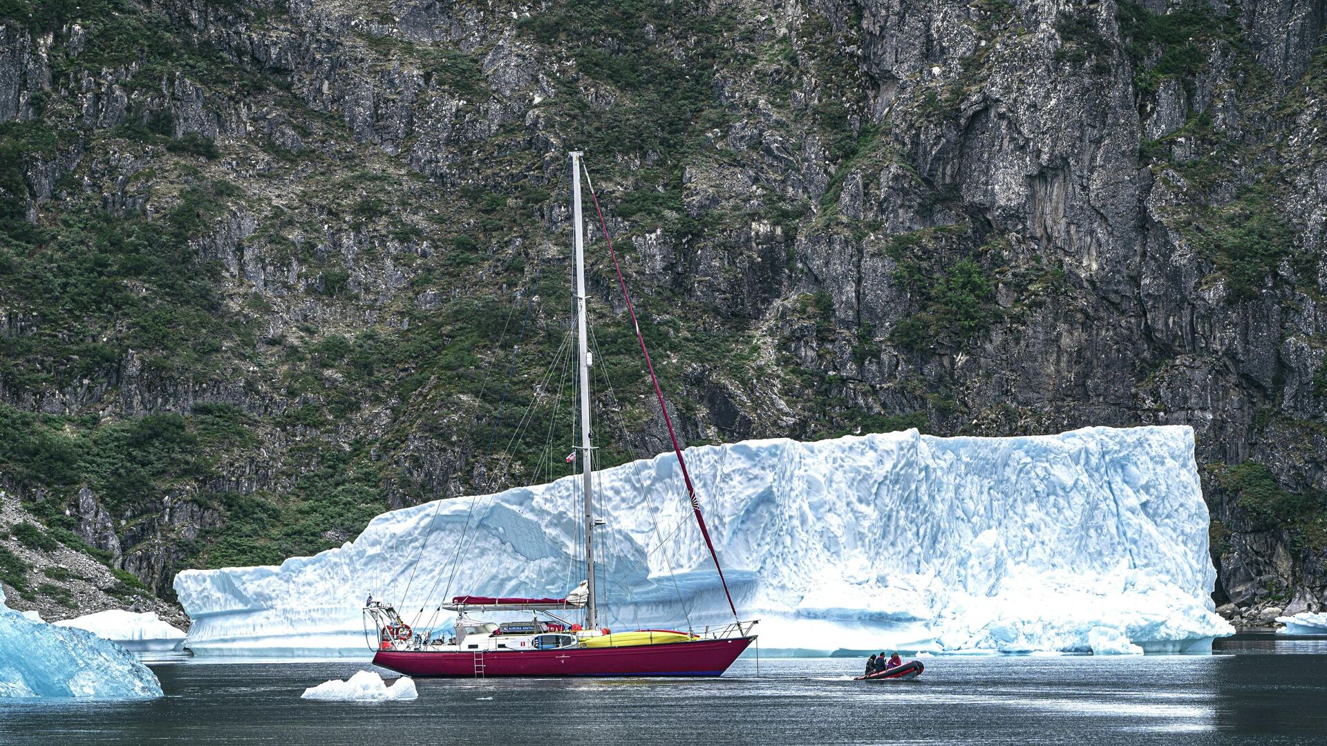
[(28, 619), (4, 600), (0, 589), (0, 698), (162, 696), (157, 676), (129, 650), (84, 629)]

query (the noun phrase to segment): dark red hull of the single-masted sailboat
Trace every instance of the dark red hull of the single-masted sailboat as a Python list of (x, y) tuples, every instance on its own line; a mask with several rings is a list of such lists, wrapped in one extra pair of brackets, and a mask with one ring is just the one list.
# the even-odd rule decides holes
[[(471, 652), (380, 650), (374, 665), (406, 676), (722, 676), (755, 637), (629, 648)], [(476, 660), (482, 661), (476, 665)], [(476, 670), (478, 669), (478, 670)]]

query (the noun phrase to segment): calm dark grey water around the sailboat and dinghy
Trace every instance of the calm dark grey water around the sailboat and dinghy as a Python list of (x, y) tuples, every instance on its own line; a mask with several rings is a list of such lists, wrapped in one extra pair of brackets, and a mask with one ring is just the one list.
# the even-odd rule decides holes
[[(1327, 743), (1327, 641), (1214, 656), (739, 661), (719, 680), (417, 680), (414, 702), (300, 700), (368, 664), (154, 666), (153, 702), (0, 701), (0, 743)], [(384, 672), (386, 673), (386, 672)], [(394, 676), (394, 674), (393, 674)]]

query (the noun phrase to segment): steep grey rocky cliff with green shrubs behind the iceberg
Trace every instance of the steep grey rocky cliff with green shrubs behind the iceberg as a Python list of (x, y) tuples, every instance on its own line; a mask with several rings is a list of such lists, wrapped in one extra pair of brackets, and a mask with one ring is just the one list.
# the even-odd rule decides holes
[[(1217, 600), (1327, 605), (1322, 3), (0, 16), (28, 603), (38, 539), (169, 595), (564, 473), (583, 149), (690, 443), (1188, 423)], [(591, 252), (620, 462), (661, 418)]]

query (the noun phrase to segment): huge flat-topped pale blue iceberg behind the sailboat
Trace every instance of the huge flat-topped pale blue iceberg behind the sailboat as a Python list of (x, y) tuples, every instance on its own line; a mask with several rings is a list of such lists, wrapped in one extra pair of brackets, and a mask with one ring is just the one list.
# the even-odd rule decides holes
[[(767, 653), (1198, 652), (1233, 633), (1209, 596), (1216, 571), (1189, 427), (908, 430), (702, 446), (686, 458), (738, 608), (760, 620)], [(675, 457), (596, 481), (608, 520), (601, 623), (685, 628), (683, 609), (695, 628), (730, 620)], [(313, 558), (180, 572), (175, 591), (194, 620), (186, 646), (364, 656), (370, 592), (417, 631), (449, 628), (433, 609), (459, 593), (561, 596), (584, 572), (577, 487), (563, 478), (426, 503), (382, 514)], [(449, 583), (462, 535), (464, 561)]]

